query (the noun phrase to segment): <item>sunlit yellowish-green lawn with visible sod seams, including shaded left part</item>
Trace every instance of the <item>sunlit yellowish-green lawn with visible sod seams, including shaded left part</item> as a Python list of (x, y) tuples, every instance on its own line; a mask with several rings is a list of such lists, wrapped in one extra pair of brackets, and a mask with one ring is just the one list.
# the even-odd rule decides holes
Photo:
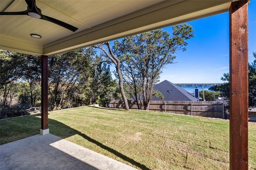
[[(39, 116), (0, 121), (0, 145), (39, 133)], [(138, 169), (229, 169), (229, 121), (80, 107), (49, 115), (50, 133)], [(256, 169), (256, 123), (249, 123)]]

